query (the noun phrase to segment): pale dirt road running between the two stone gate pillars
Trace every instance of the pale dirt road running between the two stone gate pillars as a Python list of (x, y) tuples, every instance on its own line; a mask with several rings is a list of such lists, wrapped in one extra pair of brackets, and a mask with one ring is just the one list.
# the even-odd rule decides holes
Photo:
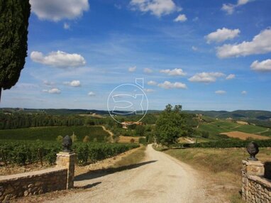
[(90, 172), (74, 182), (83, 192), (50, 202), (220, 202), (207, 197), (204, 177), (189, 165), (149, 145), (143, 163), (114, 173)]

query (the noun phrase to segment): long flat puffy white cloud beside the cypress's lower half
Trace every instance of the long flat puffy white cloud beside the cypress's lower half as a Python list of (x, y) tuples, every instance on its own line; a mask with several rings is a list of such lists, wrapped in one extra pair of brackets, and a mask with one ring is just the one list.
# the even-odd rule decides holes
[(30, 57), (34, 62), (39, 62), (53, 67), (80, 67), (86, 64), (82, 55), (77, 53), (65, 53), (60, 50), (57, 52), (51, 52), (46, 56), (38, 51), (33, 51)]

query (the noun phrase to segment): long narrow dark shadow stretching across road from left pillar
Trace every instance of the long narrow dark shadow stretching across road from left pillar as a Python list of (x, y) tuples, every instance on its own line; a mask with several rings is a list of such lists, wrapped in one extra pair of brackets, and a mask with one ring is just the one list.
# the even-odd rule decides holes
[(89, 172), (83, 173), (81, 175), (77, 175), (74, 177), (74, 181), (81, 181), (81, 180), (91, 180), (97, 177), (102, 177), (105, 175), (112, 174), (114, 172), (120, 172), (123, 170), (130, 170), (133, 168), (138, 168), (140, 166), (150, 164), (150, 163), (155, 163), (157, 160), (150, 160), (150, 161), (145, 161), (142, 163), (136, 163), (136, 164), (131, 164), (131, 165), (124, 165), (118, 168), (104, 168), (104, 169), (98, 169), (98, 170), (90, 170)]

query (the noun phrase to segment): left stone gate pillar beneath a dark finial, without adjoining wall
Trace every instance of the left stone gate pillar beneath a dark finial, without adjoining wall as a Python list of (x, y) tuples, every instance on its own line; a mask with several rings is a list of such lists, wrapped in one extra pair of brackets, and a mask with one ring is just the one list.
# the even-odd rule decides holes
[(67, 190), (74, 184), (75, 153), (57, 153), (57, 167), (67, 168)]

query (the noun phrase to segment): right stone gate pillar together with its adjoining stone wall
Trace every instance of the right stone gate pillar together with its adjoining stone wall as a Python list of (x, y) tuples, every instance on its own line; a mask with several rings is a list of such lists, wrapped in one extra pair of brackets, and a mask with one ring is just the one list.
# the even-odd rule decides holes
[(264, 177), (260, 161), (243, 160), (242, 199), (245, 202), (271, 202), (271, 181)]

